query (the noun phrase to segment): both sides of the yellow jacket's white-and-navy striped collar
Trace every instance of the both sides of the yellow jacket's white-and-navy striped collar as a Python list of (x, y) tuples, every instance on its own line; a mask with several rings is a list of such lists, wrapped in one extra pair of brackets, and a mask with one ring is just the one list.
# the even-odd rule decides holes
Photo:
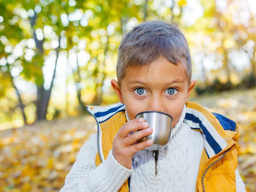
[[(88, 110), (99, 123), (103, 123), (116, 113), (125, 112), (125, 105), (119, 102), (109, 106), (90, 106)], [(225, 130), (236, 131), (236, 123), (233, 120), (209, 112), (203, 106), (192, 102), (186, 103), (184, 123), (191, 129), (204, 134), (204, 148), (208, 158), (224, 150), (231, 142), (232, 138), (226, 134)]]

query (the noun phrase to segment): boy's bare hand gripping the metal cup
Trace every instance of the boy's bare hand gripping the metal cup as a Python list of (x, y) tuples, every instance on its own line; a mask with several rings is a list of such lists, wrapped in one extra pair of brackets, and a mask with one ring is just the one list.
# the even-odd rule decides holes
[[(149, 124), (145, 122), (144, 118), (133, 119), (126, 122), (116, 133), (113, 140), (112, 153), (118, 163), (127, 169), (131, 169), (131, 160), (136, 152), (153, 144), (151, 139), (143, 141), (142, 143), (136, 143), (140, 138), (152, 134), (153, 129), (148, 127)], [(130, 132), (134, 132), (139, 129), (143, 130), (129, 135)]]

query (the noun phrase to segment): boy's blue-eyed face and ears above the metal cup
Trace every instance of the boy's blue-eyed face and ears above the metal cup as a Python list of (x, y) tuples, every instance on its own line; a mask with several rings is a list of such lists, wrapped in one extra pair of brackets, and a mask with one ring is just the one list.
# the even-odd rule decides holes
[(140, 70), (128, 67), (121, 81), (122, 89), (116, 80), (111, 80), (130, 120), (143, 111), (164, 112), (172, 116), (172, 128), (180, 119), (195, 83), (192, 80), (188, 86), (183, 65), (175, 65), (163, 57)]

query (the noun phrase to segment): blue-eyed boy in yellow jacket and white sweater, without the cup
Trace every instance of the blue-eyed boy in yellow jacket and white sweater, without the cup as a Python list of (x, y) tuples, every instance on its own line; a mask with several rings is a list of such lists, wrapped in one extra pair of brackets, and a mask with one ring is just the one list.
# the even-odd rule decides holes
[[(87, 106), (97, 135), (80, 149), (61, 192), (245, 192), (236, 170), (236, 123), (188, 101), (196, 80), (177, 26), (142, 23), (118, 50), (118, 82), (111, 85), (120, 102)], [(155, 155), (145, 149), (152, 140), (136, 143), (152, 133), (145, 119), (135, 119), (143, 111), (173, 117), (171, 140)]]

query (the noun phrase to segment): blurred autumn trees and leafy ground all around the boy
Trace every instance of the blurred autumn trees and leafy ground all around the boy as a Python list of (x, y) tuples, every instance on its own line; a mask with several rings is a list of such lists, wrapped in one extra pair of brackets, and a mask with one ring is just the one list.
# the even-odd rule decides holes
[(190, 101), (238, 123), (239, 172), (256, 191), (256, 0), (1, 0), (0, 191), (61, 189), (96, 132), (85, 106), (119, 102), (122, 37), (157, 19), (189, 42)]

